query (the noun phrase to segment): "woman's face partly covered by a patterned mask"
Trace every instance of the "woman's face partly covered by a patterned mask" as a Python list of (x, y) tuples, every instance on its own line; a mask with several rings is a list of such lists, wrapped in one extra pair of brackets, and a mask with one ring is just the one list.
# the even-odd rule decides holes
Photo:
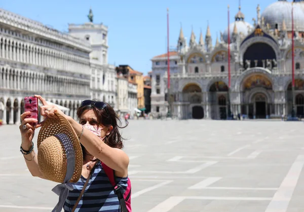
[(80, 117), (80, 124), (85, 125), (85, 124), (90, 124), (93, 126), (95, 129), (100, 128), (100, 137), (104, 138), (106, 135), (109, 134), (110, 130), (108, 127), (104, 127), (103, 125), (98, 126), (98, 121), (97, 117), (94, 113), (93, 110), (86, 110)]

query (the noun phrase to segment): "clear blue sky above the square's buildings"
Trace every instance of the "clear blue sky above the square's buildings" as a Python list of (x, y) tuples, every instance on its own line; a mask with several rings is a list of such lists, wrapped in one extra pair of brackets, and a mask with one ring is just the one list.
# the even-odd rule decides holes
[[(277, 0), (242, 0), (245, 21), (256, 18), (256, 7), (262, 12)], [(227, 5), (230, 5), (230, 21), (238, 12), (239, 0), (154, 0), (154, 1), (80, 1), (80, 0), (11, 0), (0, 1), (0, 7), (40, 21), (60, 31), (67, 31), (68, 23), (84, 23), (92, 7), (95, 23), (104, 23), (108, 32), (108, 61), (111, 64), (129, 64), (146, 74), (151, 69), (150, 59), (166, 53), (167, 8), (170, 14), (170, 46), (176, 46), (180, 23), (189, 41), (192, 26), (199, 39), (202, 28), (205, 37), (209, 21), (213, 43), (219, 31), (227, 27)]]

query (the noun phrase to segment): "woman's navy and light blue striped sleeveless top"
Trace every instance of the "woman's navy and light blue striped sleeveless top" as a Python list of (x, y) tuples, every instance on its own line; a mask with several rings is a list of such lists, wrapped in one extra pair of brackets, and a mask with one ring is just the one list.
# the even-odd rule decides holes
[[(81, 176), (77, 183), (72, 184), (74, 190), (69, 191), (68, 197), (64, 203), (64, 211), (72, 211), (76, 200), (78, 199), (81, 190), (83, 189), (86, 180)], [(116, 177), (116, 183), (121, 185), (124, 190), (127, 188), (128, 177)], [(95, 165), (94, 172), (87, 185), (87, 188), (79, 201), (75, 212), (120, 212), (120, 204), (117, 195), (113, 191), (106, 173), (104, 172), (100, 161)]]

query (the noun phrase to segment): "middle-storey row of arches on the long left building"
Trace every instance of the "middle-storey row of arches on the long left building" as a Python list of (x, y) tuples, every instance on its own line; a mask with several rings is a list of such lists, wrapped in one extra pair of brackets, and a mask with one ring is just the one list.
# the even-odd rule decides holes
[(88, 95), (90, 81), (0, 66), (0, 88)]

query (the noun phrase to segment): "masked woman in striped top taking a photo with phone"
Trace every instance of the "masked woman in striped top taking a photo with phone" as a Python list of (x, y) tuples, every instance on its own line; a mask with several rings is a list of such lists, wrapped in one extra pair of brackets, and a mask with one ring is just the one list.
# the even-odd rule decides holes
[[(56, 119), (55, 113), (59, 113), (65, 117), (79, 136), (82, 145), (84, 156), (82, 176), (77, 183), (73, 184), (74, 190), (69, 192), (64, 204), (64, 211), (72, 211), (91, 171), (91, 180), (87, 185), (82, 201), (77, 205), (75, 211), (121, 211), (117, 195), (113, 192), (112, 185), (106, 179), (107, 176), (100, 163), (102, 161), (113, 169), (116, 183), (121, 188), (126, 189), (129, 157), (122, 151), (123, 138), (119, 132), (117, 123), (119, 119), (115, 111), (107, 103), (85, 100), (77, 111), (77, 116), (80, 120), (80, 123), (78, 123), (71, 117), (66, 116), (54, 105), (48, 105), (43, 97), (39, 95), (35, 95), (35, 97), (39, 98), (43, 103), (41, 115), (46, 118)], [(22, 123), (19, 127), (22, 137), (21, 148), (25, 151), (31, 149), (35, 132), (35, 127), (30, 123), (37, 122), (33, 118), (25, 119), (28, 114), (29, 112), (25, 112), (21, 115)], [(26, 129), (24, 129), (23, 125), (26, 126)], [(43, 122), (36, 125), (36, 128), (42, 125)], [(26, 165), (33, 176), (43, 178), (39, 170), (37, 157), (34, 155), (34, 151), (23, 155)]]

